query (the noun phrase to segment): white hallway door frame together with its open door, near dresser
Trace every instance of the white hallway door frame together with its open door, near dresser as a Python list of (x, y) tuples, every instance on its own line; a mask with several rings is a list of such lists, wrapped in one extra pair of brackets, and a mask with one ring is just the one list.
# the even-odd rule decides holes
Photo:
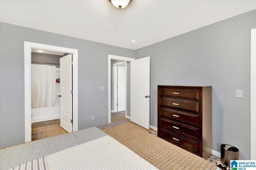
[[(149, 129), (150, 117), (150, 57), (133, 59), (108, 55), (108, 123), (111, 122), (111, 60), (130, 62), (130, 93), (126, 91), (126, 98), (130, 96), (130, 106), (126, 100), (126, 110), (130, 107), (130, 121)], [(128, 77), (128, 76), (127, 76)], [(126, 82), (126, 85), (128, 83)], [(125, 117), (128, 118), (127, 111)]]

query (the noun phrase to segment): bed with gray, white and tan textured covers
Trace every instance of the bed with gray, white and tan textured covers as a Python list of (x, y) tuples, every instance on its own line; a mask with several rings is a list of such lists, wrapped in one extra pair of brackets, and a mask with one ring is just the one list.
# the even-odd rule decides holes
[(133, 123), (118, 121), (1, 149), (0, 169), (216, 170), (217, 166)]

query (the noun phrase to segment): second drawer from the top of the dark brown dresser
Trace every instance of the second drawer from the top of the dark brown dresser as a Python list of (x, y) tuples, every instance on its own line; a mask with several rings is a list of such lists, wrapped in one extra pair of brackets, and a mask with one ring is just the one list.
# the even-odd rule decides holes
[(174, 98), (161, 98), (160, 106), (199, 113), (199, 102)]

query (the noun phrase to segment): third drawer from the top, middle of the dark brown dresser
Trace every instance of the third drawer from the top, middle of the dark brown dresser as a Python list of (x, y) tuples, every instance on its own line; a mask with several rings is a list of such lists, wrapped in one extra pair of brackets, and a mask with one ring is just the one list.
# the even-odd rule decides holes
[(186, 125), (194, 127), (199, 127), (199, 115), (196, 114), (185, 113), (183, 111), (176, 111), (162, 107), (160, 107), (158, 114), (158, 116), (164, 117), (166, 119), (178, 121), (180, 123), (184, 123)]

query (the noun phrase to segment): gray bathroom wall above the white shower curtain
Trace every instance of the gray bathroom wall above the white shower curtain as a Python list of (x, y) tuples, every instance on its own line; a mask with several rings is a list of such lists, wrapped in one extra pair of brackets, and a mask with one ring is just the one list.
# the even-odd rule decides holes
[(61, 57), (62, 57), (62, 55), (31, 53), (31, 61), (32, 62), (38, 62), (38, 63), (55, 63), (55, 64), (60, 64), (60, 58)]

